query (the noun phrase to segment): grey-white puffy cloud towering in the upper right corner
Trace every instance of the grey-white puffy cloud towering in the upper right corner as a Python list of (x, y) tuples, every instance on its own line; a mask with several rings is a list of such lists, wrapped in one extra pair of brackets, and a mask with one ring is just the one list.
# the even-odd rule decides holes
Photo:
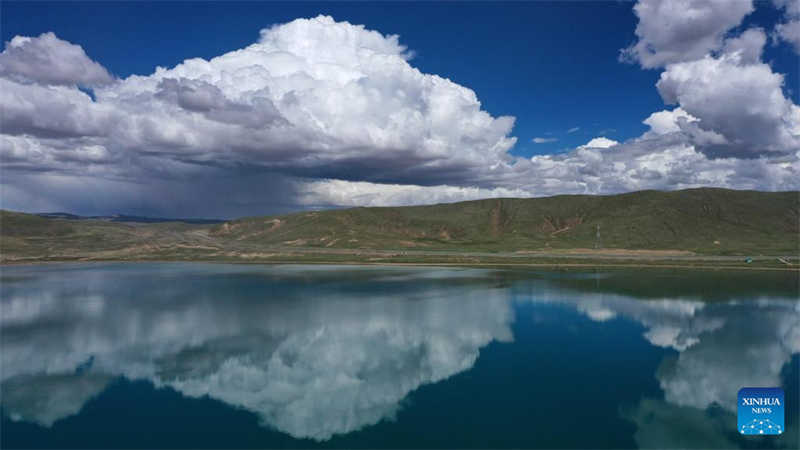
[[(787, 14), (796, 9), (782, 0), (778, 5)], [(634, 11), (638, 40), (623, 55), (645, 68), (663, 67), (661, 97), (689, 115), (650, 116), (651, 135), (677, 126), (714, 158), (786, 156), (800, 149), (800, 109), (785, 96), (783, 75), (761, 62), (766, 33), (731, 33), (753, 11), (751, 0), (640, 0)]]

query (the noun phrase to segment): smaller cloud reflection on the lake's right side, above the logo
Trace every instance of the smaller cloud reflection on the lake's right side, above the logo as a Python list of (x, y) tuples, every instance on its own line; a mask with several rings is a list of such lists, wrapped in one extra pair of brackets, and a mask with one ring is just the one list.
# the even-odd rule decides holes
[[(668, 402), (736, 409), (743, 386), (780, 386), (781, 369), (800, 352), (800, 302), (760, 299), (706, 303), (690, 299), (634, 300), (607, 293), (534, 294), (534, 301), (568, 304), (590, 319), (634, 320), (651, 344), (672, 348), (658, 372)], [(558, 293), (555, 291), (553, 293)], [(733, 394), (731, 394), (733, 393)]]

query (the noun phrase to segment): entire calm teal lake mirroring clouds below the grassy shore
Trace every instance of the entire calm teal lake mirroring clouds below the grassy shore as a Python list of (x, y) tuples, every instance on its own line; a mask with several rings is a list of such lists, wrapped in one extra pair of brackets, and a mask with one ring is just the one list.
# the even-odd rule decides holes
[[(3, 448), (798, 448), (786, 272), (3, 267)], [(782, 387), (786, 432), (737, 392)]]

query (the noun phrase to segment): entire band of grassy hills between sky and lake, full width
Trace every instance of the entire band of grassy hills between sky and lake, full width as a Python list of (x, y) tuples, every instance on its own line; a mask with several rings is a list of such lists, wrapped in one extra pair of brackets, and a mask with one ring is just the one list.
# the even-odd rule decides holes
[(592, 248), (597, 225), (605, 249), (797, 255), (799, 223), (798, 192), (722, 189), (353, 208), (222, 225), (47, 219), (1, 211), (0, 258), (224, 259), (275, 248), (557, 252)]

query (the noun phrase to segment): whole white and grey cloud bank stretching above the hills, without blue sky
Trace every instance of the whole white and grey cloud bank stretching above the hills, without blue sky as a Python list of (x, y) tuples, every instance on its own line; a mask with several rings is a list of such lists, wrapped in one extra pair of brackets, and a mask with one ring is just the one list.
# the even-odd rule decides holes
[[(733, 4), (735, 16), (746, 3)], [(663, 40), (650, 36), (664, 30), (651, 30), (653, 5), (643, 4), (641, 42)], [(688, 10), (722, 20), (706, 17), (717, 4), (698, 5)], [(675, 23), (694, 20), (669, 12)], [(698, 44), (704, 55), (670, 57), (658, 90), (676, 107), (646, 118), (644, 135), (529, 159), (511, 152), (513, 117), (420, 72), (398, 36), (327, 16), (125, 79), (103, 75), (81, 47), (51, 33), (16, 37), (0, 57), (2, 203), (232, 217), (635, 189), (797, 189), (800, 110), (782, 75), (758, 61), (765, 39), (750, 29), (713, 40), (711, 50)]]

